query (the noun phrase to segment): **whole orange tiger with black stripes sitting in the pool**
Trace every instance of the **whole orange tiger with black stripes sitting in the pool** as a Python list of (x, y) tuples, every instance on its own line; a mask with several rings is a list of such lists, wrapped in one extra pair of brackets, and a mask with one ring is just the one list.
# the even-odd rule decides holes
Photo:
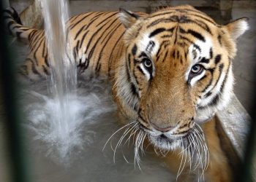
[[(45, 31), (22, 25), (13, 8), (6, 9), (4, 17), (7, 30), (29, 42), (20, 76), (32, 82), (48, 76)], [(87, 12), (67, 23), (69, 60), (83, 73), (108, 77), (124, 127), (136, 128), (135, 153), (145, 140), (165, 152), (162, 159), (180, 176), (177, 181), (200, 178), (186, 172), (189, 155), (190, 167), (207, 163), (200, 170), (201, 181), (232, 181), (216, 113), (230, 101), (232, 60), (238, 37), (249, 28), (246, 17), (219, 25), (194, 7), (180, 5), (151, 14), (126, 9)], [(186, 155), (180, 159), (172, 151)], [(193, 159), (194, 151), (203, 154), (200, 162), (195, 162), (198, 155)]]

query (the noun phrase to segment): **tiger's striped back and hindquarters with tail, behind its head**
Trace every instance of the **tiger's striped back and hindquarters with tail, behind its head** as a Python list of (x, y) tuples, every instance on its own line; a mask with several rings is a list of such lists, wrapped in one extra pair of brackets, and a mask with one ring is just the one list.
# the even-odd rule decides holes
[[(10, 33), (29, 41), (29, 54), (20, 67), (20, 74), (31, 80), (44, 78), (49, 74), (45, 31), (21, 25), (14, 19), (17, 16), (15, 9), (9, 8), (5, 14)], [(67, 23), (71, 44), (67, 48), (69, 61), (75, 63), (80, 72), (110, 76), (124, 46), (121, 39), (125, 28), (118, 19), (118, 12), (88, 12), (71, 17)]]

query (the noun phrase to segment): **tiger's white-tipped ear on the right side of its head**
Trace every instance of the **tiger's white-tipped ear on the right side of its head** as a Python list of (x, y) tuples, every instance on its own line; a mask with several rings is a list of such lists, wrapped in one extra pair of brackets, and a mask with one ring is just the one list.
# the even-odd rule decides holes
[(248, 17), (242, 17), (225, 25), (232, 39), (236, 40), (249, 29), (248, 20)]

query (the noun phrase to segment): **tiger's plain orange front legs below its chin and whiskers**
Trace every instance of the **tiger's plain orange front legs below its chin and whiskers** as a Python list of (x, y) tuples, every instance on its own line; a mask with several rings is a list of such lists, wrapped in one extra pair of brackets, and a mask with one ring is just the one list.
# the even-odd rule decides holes
[(190, 168), (188, 154), (187, 156), (183, 154), (182, 157), (181, 150), (168, 152), (167, 156), (163, 158), (163, 160), (168, 165), (168, 167), (170, 167), (170, 170), (173, 174), (178, 175), (178, 172), (181, 172), (182, 170), (182, 173), (178, 176), (177, 181), (197, 181), (197, 178), (204, 178), (205, 181), (212, 182), (232, 181), (231, 167), (228, 164), (225, 152), (222, 151), (222, 146), (219, 141), (220, 139), (217, 134), (215, 118), (203, 124), (203, 133), (207, 140), (210, 160), (208, 168), (204, 173), (204, 177), (202, 175), (202, 170), (194, 170), (195, 166)]

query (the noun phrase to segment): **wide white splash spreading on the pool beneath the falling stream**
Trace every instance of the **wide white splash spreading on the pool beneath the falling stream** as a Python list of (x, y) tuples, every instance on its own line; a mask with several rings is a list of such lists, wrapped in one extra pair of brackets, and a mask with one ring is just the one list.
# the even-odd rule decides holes
[[(69, 161), (73, 151), (83, 150), (94, 142), (95, 131), (89, 127), (99, 124), (98, 117), (102, 114), (116, 110), (105, 81), (83, 79), (79, 84), (75, 94), (69, 92), (64, 121), (59, 120), (62, 112), (59, 100), (63, 98), (49, 94), (46, 83), (31, 85), (22, 96), (29, 121), (25, 127), (33, 132), (34, 141), (45, 143), (45, 155), (57, 159), (56, 162)], [(64, 127), (62, 122), (66, 122)]]

